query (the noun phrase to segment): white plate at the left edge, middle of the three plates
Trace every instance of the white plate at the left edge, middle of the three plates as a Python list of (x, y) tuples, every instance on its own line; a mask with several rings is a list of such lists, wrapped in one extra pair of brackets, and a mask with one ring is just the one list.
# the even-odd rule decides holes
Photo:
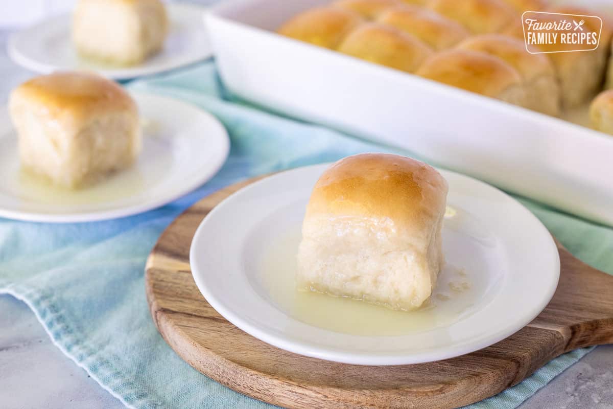
[(53, 188), (20, 170), (17, 134), (0, 110), (0, 216), (69, 223), (118, 218), (172, 202), (215, 175), (229, 138), (215, 117), (193, 105), (132, 94), (143, 123), (143, 151), (129, 169), (91, 188)]

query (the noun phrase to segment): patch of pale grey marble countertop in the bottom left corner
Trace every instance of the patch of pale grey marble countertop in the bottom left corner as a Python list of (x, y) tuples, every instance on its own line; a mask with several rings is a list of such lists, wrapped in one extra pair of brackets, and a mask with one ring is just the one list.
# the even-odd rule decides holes
[(124, 405), (53, 345), (26, 304), (4, 295), (0, 296), (0, 408)]

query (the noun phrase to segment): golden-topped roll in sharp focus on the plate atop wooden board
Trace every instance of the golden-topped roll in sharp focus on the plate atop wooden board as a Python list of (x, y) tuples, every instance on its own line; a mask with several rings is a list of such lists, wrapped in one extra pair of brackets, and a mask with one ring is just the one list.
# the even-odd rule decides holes
[(313, 188), (302, 224), (299, 289), (413, 310), (443, 267), (447, 182), (383, 153), (349, 156)]

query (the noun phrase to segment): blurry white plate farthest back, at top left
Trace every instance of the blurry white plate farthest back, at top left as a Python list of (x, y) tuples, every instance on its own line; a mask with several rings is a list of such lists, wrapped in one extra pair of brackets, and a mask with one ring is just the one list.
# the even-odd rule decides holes
[(210, 57), (211, 47), (202, 26), (205, 9), (188, 4), (166, 7), (170, 31), (164, 48), (137, 66), (104, 66), (79, 58), (70, 39), (70, 15), (53, 17), (15, 32), (7, 42), (8, 53), (15, 63), (35, 72), (91, 70), (115, 80), (156, 74)]

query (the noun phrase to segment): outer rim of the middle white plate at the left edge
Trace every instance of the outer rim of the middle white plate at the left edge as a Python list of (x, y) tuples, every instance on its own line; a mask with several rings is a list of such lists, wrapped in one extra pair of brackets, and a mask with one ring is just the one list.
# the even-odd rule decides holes
[[(126, 207), (113, 208), (110, 210), (100, 210), (98, 212), (83, 212), (83, 213), (42, 213), (42, 212), (21, 212), (18, 210), (8, 210), (2, 207), (0, 203), (0, 217), (7, 218), (11, 220), (19, 220), (19, 221), (29, 221), (36, 223), (85, 223), (85, 222), (94, 222), (94, 221), (104, 221), (104, 220), (113, 220), (118, 218), (124, 218), (128, 216), (138, 215), (140, 213), (148, 212), (149, 210), (153, 210), (154, 208), (161, 207), (162, 205), (169, 204), (170, 202), (176, 201), (180, 197), (185, 196), (191, 191), (194, 191), (204, 183), (211, 180), (211, 178), (215, 177), (218, 174), (219, 170), (226, 163), (227, 158), (230, 153), (230, 137), (228, 135), (226, 127), (218, 120), (214, 115), (207, 112), (206, 110), (200, 108), (197, 105), (191, 104), (189, 102), (182, 101), (177, 98), (165, 96), (162, 94), (143, 92), (143, 91), (132, 91), (128, 90), (129, 94), (135, 97), (145, 97), (145, 98), (154, 98), (158, 100), (166, 100), (171, 101), (172, 104), (184, 105), (189, 107), (189, 109), (197, 110), (199, 115), (202, 115), (210, 120), (212, 123), (215, 123), (216, 128), (218, 128), (219, 132), (215, 132), (218, 134), (218, 143), (221, 155), (213, 156), (211, 160), (214, 161), (214, 166), (211, 166), (207, 172), (203, 172), (199, 177), (194, 178), (192, 183), (186, 184), (183, 188), (178, 189), (177, 193), (159, 197), (158, 199), (148, 201), (145, 204), (135, 204), (129, 205)], [(14, 132), (14, 127), (11, 124), (11, 128)], [(207, 134), (208, 135), (208, 134)], [(204, 134), (199, 134), (199, 137), (204, 137)]]

